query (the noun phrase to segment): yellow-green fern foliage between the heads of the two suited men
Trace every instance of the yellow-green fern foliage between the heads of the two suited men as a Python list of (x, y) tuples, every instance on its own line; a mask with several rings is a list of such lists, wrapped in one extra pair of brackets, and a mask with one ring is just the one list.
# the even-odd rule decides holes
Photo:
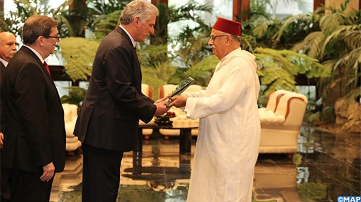
[(81, 37), (69, 37), (59, 42), (60, 53), (65, 60), (65, 72), (71, 80), (87, 80), (100, 42)]

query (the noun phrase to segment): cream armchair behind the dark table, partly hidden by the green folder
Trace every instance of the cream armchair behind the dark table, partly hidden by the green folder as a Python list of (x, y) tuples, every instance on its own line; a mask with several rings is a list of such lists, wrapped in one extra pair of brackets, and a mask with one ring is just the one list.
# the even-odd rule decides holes
[[(167, 84), (159, 87), (159, 98), (164, 98), (165, 96), (169, 95), (177, 85), (173, 84)], [(197, 92), (202, 90), (203, 87), (200, 85), (191, 85), (189, 86), (184, 92), (193, 91)], [(191, 120), (188, 119), (186, 116), (186, 113), (182, 111), (182, 109), (179, 109), (177, 107), (172, 107), (170, 112), (175, 113), (175, 117), (170, 118), (170, 121), (173, 121), (173, 126), (194, 126), (199, 125), (199, 119), (197, 120)], [(165, 138), (168, 138), (169, 136), (175, 136), (179, 135), (181, 132), (180, 130), (173, 130), (173, 129), (159, 129), (159, 133), (162, 135), (165, 135)], [(192, 135), (198, 135), (198, 129), (192, 129), (191, 131)]]

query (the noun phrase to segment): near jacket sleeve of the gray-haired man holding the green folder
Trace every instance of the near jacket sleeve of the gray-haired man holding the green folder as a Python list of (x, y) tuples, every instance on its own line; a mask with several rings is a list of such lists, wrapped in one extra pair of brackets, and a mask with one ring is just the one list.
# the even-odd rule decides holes
[[(142, 121), (148, 122), (155, 114), (156, 106), (131, 85), (134, 68), (139, 68), (132, 66), (131, 59), (131, 51), (124, 46), (117, 46), (105, 55), (106, 85), (113, 98), (123, 107), (136, 113)], [(140, 77), (140, 75), (135, 76)]]

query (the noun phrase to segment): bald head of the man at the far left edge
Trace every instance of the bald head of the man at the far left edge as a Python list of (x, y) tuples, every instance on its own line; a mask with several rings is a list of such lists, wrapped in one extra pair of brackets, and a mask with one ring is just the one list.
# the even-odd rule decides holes
[(0, 58), (9, 62), (16, 53), (16, 37), (10, 32), (0, 32)]

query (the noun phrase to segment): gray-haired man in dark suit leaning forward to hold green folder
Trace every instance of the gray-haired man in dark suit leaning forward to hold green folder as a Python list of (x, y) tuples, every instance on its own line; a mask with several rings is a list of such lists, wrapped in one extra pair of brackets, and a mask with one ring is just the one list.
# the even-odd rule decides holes
[(134, 148), (139, 119), (149, 122), (169, 109), (166, 99), (154, 102), (142, 94), (134, 43), (154, 33), (158, 13), (148, 1), (132, 1), (122, 12), (121, 25), (104, 38), (96, 52), (74, 129), (83, 148), (84, 202), (116, 201), (123, 152)]

